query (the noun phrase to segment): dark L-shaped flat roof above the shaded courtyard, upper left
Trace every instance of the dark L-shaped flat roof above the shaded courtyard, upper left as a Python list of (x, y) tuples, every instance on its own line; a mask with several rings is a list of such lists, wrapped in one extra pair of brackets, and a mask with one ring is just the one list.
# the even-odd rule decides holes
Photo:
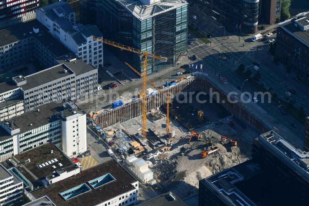
[[(39, 28), (39, 33), (33, 32), (33, 27)], [(70, 53), (70, 50), (53, 38), (48, 29), (36, 19), (0, 30), (0, 47), (32, 37), (48, 47), (56, 57)]]

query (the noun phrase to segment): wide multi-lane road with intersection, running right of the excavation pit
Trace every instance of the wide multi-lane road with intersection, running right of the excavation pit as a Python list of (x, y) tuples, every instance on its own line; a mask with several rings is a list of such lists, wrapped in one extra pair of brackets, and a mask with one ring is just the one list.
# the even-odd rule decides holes
[[(242, 85), (245, 79), (239, 76), (235, 72), (235, 69), (243, 63), (245, 69), (250, 69), (253, 73), (252, 75), (254, 75), (255, 71), (251, 69), (252, 66), (254, 66), (252, 62), (258, 62), (261, 74), (259, 82), (263, 83), (265, 88), (272, 87), (272, 92), (277, 92), (278, 97), (282, 100), (286, 99), (285, 92), (288, 92), (290, 89), (295, 90), (296, 94), (289, 97), (289, 101), (294, 100), (295, 107), (303, 107), (304, 113), (309, 114), (309, 100), (305, 98), (307, 94), (306, 86), (291, 77), (291, 75), (286, 75), (285, 67), (280, 64), (276, 65), (273, 62), (271, 54), (268, 53), (268, 39), (276, 39), (276, 34), (268, 37), (265, 41), (252, 42), (250, 41), (252, 35), (237, 36), (226, 31), (226, 36), (224, 38), (224, 29), (222, 27), (220, 28), (220, 25), (211, 18), (208, 18), (205, 21), (205, 19), (193, 19), (192, 17), (189, 17), (189, 24), (191, 24), (191, 22), (198, 25), (199, 32), (203, 33), (206, 31), (207, 34), (211, 35), (212, 37), (210, 38), (210, 41), (212, 43), (211, 45), (205, 45), (204, 42), (195, 38), (194, 34), (189, 32), (190, 35), (188, 36), (188, 39), (193, 43), (188, 45), (188, 55), (190, 57), (196, 55), (197, 57), (196, 61), (193, 61), (192, 58), (190, 58), (190, 64), (203, 64), (203, 72), (208, 73), (209, 78), (217, 78), (215, 75), (220, 72), (220, 76), (226, 77), (228, 84), (235, 86), (235, 91), (240, 93), (240, 90), (237, 89), (237, 87)], [(270, 32), (273, 30), (274, 29)], [(222, 60), (220, 58), (222, 56), (226, 57), (226, 59)], [(191, 69), (191, 71), (193, 70)], [(197, 71), (199, 71), (199, 69), (197, 69)], [(253, 93), (258, 91), (249, 82), (245, 82), (242, 92), (250, 92), (253, 97)], [(275, 121), (281, 122), (282, 125), (290, 129), (299, 138), (303, 138), (303, 124), (299, 123), (290, 114), (286, 116), (283, 115), (281, 113), (282, 108), (276, 110), (279, 106), (276, 103), (271, 101), (261, 103), (259, 96), (258, 100), (259, 102), (257, 104), (260, 108), (271, 114)], [(292, 123), (296, 125), (296, 128), (291, 126)]]

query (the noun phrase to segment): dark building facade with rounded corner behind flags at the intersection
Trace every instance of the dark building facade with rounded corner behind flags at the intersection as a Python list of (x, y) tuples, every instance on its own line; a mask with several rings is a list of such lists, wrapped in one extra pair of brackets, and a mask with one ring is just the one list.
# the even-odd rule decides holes
[(260, 0), (199, 0), (210, 7), (211, 17), (222, 23), (226, 30), (256, 33)]

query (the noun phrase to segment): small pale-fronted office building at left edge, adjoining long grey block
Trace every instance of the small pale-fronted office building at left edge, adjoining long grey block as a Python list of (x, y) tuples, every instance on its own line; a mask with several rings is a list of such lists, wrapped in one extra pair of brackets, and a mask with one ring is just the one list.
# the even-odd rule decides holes
[(23, 97), (13, 81), (0, 84), (0, 122), (24, 113)]

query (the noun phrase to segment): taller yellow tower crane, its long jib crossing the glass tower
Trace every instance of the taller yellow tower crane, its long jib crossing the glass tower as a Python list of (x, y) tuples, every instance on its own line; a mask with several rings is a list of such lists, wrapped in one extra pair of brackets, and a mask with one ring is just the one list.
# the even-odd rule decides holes
[(139, 49), (134, 49), (130, 46), (125, 46), (114, 41), (109, 41), (107, 39), (103, 39), (97, 36), (92, 36), (91, 39), (102, 42), (104, 44), (108, 44), (111, 46), (115, 46), (120, 48), (121, 50), (131, 51), (141, 55), (141, 59), (143, 61), (143, 68), (142, 68), (142, 130), (141, 135), (143, 139), (146, 139), (147, 133), (147, 117), (146, 117), (146, 104), (147, 104), (147, 96), (146, 96), (146, 89), (147, 89), (147, 57), (152, 57), (160, 60), (167, 61), (167, 58), (159, 57), (153, 54), (149, 54), (147, 51), (141, 51)]

